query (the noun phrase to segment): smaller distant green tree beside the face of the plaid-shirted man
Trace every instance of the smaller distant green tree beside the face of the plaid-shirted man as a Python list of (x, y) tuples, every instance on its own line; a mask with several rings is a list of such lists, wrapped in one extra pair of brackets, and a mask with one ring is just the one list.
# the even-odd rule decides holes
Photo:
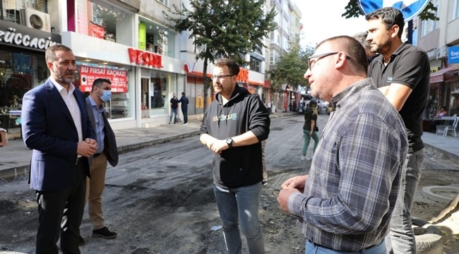
[(308, 85), (304, 73), (309, 68), (308, 57), (313, 53), (314, 49), (310, 47), (301, 49), (297, 42), (291, 43), (289, 51), (275, 63), (275, 68), (267, 72), (272, 89), (278, 91), (284, 84), (291, 88)]

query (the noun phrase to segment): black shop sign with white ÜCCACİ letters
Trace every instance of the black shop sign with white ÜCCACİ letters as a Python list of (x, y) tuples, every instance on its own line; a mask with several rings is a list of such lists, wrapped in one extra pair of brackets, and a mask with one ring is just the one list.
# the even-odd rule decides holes
[(60, 35), (0, 20), (0, 44), (45, 51), (56, 43), (61, 43)]

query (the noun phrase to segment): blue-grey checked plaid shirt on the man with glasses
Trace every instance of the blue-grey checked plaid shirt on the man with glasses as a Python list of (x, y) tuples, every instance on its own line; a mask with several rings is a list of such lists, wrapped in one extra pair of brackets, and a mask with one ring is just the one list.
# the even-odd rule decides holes
[(304, 193), (290, 195), (288, 209), (310, 241), (357, 251), (388, 234), (406, 166), (407, 134), (371, 78), (331, 102)]

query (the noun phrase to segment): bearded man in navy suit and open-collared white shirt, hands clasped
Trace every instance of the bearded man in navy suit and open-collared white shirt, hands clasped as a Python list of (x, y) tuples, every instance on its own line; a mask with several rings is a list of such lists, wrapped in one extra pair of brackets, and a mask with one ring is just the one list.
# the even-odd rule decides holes
[(83, 92), (73, 86), (76, 59), (70, 48), (54, 44), (46, 51), (48, 80), (25, 93), (22, 131), (33, 149), (30, 188), (39, 212), (37, 254), (80, 254), (78, 237), (85, 205), (88, 158), (97, 150)]

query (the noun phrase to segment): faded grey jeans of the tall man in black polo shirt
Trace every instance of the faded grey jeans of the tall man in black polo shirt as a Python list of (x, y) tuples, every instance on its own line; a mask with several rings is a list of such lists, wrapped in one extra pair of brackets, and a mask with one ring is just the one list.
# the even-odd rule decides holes
[(424, 148), (407, 155), (406, 174), (401, 181), (397, 202), (391, 217), (391, 231), (386, 236), (388, 253), (416, 254), (416, 239), (411, 224), (411, 208), (417, 183), (421, 179)]

